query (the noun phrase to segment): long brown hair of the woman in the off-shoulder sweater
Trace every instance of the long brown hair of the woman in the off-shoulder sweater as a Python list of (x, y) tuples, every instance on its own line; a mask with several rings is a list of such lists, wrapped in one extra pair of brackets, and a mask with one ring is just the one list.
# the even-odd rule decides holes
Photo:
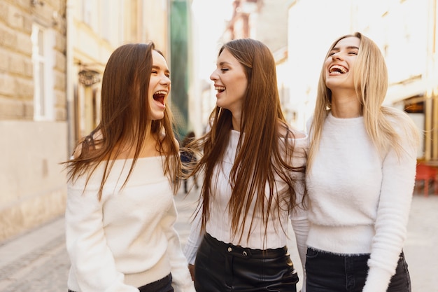
[[(135, 147), (133, 162), (123, 184), (125, 186), (149, 133), (157, 140), (157, 151), (166, 157), (163, 162), (164, 173), (169, 176), (169, 180), (178, 181), (176, 177), (181, 171), (181, 162), (178, 159), (178, 144), (174, 137), (169, 106), (166, 105), (164, 118), (148, 123), (148, 89), (153, 50), (154, 43), (129, 43), (111, 54), (102, 78), (101, 121), (96, 129), (78, 141), (77, 149), (80, 149), (80, 153), (65, 162), (69, 169), (69, 181), (84, 174), (87, 174), (88, 181), (98, 165), (104, 163), (99, 200), (114, 160), (122, 153), (122, 149)], [(174, 192), (177, 188), (174, 183)]]

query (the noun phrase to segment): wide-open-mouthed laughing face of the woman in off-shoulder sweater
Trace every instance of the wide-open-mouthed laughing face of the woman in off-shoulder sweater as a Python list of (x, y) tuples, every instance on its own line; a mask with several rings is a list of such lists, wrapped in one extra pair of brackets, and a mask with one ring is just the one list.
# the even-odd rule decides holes
[(149, 106), (150, 120), (160, 120), (164, 118), (167, 97), (169, 96), (171, 81), (170, 71), (167, 62), (156, 50), (152, 51), (153, 66), (149, 80)]

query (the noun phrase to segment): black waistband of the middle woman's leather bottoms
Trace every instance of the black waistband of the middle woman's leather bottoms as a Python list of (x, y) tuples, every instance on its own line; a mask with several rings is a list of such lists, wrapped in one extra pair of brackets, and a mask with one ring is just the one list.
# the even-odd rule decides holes
[(247, 247), (221, 242), (209, 235), (209, 233), (204, 235), (204, 240), (221, 253), (239, 256), (240, 258), (278, 258), (288, 254), (287, 246), (278, 249), (249, 249)]

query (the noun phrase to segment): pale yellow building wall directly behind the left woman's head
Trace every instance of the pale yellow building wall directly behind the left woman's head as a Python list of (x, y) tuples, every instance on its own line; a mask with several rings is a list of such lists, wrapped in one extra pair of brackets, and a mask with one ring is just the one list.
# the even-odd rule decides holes
[[(167, 1), (69, 0), (69, 8), (73, 18), (68, 44), (73, 62), (69, 69), (73, 83), (70, 95), (77, 109), (76, 120), (70, 120), (73, 123), (70, 127), (76, 133), (74, 141), (70, 141), (69, 148), (72, 148), (77, 139), (99, 122), (99, 114), (94, 119), (90, 115), (93, 110), (87, 101), (100, 100), (101, 83), (85, 87), (78, 82), (78, 72), (90, 69), (99, 72), (101, 77), (113, 50), (125, 43), (154, 41), (168, 59), (169, 50)], [(95, 97), (92, 92), (96, 92)]]

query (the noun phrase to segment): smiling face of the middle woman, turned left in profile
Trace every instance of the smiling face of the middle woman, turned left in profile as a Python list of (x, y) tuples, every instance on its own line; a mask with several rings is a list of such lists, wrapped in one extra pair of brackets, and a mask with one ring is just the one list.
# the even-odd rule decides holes
[(216, 63), (216, 70), (210, 76), (214, 81), (216, 105), (239, 116), (248, 87), (243, 65), (226, 48), (222, 50)]

